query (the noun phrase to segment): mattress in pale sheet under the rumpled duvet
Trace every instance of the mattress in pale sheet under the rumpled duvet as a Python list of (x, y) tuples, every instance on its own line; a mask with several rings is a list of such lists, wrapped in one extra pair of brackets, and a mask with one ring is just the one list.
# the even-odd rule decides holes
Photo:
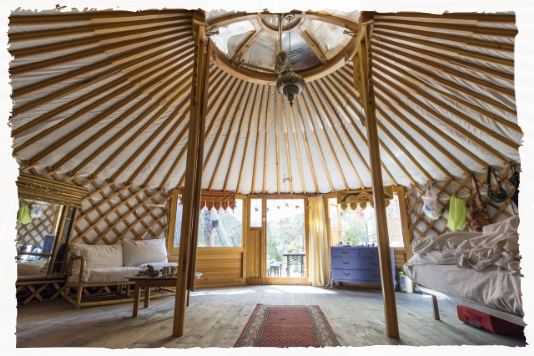
[(508, 313), (534, 319), (534, 272), (477, 272), (456, 265), (404, 265), (415, 283)]

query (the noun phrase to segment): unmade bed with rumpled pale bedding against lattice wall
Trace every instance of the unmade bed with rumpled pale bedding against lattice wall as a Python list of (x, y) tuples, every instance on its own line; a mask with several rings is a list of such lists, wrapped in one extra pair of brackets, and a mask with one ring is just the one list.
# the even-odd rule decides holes
[[(418, 289), (534, 330), (534, 214), (412, 242), (404, 273)], [(463, 268), (460, 268), (462, 266)]]

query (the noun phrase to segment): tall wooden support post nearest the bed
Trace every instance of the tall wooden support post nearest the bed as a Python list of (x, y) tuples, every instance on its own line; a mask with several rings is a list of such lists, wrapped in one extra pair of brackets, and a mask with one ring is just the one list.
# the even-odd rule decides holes
[[(376, 211), (378, 255), (380, 257), (380, 278), (382, 280), (382, 296), (384, 299), (384, 316), (386, 321), (386, 335), (399, 337), (399, 324), (397, 321), (397, 306), (395, 302), (395, 289), (393, 286), (393, 266), (391, 264), (391, 249), (387, 226), (386, 205), (384, 196), (384, 182), (380, 165), (380, 146), (376, 120), (376, 103), (373, 88), (372, 60), (371, 60), (371, 30), (372, 23), (365, 25), (361, 31), (362, 40), (357, 56), (359, 71), (354, 70), (354, 82), (361, 82), (360, 96), (364, 103), (367, 141), (369, 143), (369, 161), (373, 184), (373, 199)], [(356, 68), (355, 68), (356, 69)], [(359, 78), (358, 78), (359, 72)], [(358, 88), (356, 88), (358, 89)]]

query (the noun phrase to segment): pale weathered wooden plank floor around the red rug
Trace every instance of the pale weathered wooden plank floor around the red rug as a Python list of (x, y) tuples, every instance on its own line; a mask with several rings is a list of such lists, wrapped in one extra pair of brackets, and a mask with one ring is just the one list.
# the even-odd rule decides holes
[(534, 340), (464, 325), (455, 305), (397, 293), (401, 338), (384, 335), (382, 297), (374, 290), (300, 286), (201, 289), (191, 295), (187, 333), (171, 337), (174, 298), (73, 309), (65, 301), (0, 308), (2, 355), (228, 355), (258, 303), (317, 304), (347, 355), (533, 355)]

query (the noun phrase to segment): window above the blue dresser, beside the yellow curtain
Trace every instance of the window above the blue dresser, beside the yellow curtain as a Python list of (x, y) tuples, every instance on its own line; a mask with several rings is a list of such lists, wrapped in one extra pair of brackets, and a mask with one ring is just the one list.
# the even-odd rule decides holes
[[(334, 199), (330, 199), (334, 200)], [(330, 202), (329, 202), (330, 203)], [(329, 209), (331, 205), (329, 204)], [(365, 209), (357, 208), (356, 210), (341, 210), (341, 219), (337, 226), (332, 225), (332, 210), (330, 212), (330, 228), (332, 236), (332, 245), (338, 242), (350, 242), (353, 245), (376, 244), (376, 215), (375, 209), (368, 205)], [(386, 209), (388, 221), (388, 235), (391, 247), (403, 247), (402, 225), (399, 209), (399, 198), (397, 194), (391, 200)]]

